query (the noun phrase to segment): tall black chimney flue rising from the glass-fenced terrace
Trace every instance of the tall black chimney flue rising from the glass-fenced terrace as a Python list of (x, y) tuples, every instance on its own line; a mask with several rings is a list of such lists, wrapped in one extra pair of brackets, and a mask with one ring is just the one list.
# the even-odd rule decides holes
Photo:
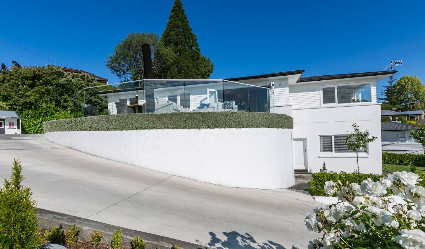
[[(144, 43), (142, 45), (143, 54), (143, 71), (144, 71), (144, 96), (145, 99), (145, 112), (150, 113), (155, 111), (155, 99), (153, 95), (153, 79), (152, 73), (152, 55), (150, 54), (150, 45)], [(147, 81), (146, 81), (147, 80)]]

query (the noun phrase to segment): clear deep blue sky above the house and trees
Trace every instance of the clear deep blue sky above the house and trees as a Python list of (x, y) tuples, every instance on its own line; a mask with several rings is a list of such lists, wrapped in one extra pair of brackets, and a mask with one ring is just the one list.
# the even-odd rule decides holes
[[(381, 71), (425, 83), (423, 1), (182, 0), (214, 78), (305, 69), (304, 76)], [(343, 4), (342, 4), (343, 3)], [(164, 31), (173, 0), (3, 1), (0, 38), (65, 66), (119, 80), (105, 66), (130, 32)], [(52, 64), (0, 41), (0, 63)], [(54, 63), (53, 63), (54, 64)], [(385, 85), (380, 81), (378, 90)]]

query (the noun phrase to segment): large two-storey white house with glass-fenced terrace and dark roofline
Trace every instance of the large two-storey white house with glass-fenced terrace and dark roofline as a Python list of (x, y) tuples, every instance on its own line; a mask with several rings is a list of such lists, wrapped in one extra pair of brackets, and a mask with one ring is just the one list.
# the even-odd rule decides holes
[[(323, 161), (332, 171), (353, 172), (356, 155), (346, 135), (356, 123), (377, 137), (359, 154), (360, 170), (382, 173), (381, 113), (377, 81), (397, 71), (302, 77), (304, 70), (237, 77), (226, 80), (144, 80), (86, 89), (90, 97), (108, 101), (111, 114), (134, 112), (274, 112), (294, 118), (293, 169), (318, 172)], [(124, 87), (125, 86), (125, 87)], [(82, 106), (81, 104), (79, 106)], [(85, 110), (84, 110), (85, 111)], [(96, 112), (93, 112), (96, 113)], [(87, 112), (85, 112), (87, 116)], [(270, 155), (265, 155), (270, 156)], [(279, 155), (273, 155), (279, 156)]]

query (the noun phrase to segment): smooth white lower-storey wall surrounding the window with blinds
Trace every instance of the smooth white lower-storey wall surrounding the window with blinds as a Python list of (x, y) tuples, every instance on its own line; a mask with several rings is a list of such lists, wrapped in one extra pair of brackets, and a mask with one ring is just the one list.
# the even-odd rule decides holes
[(306, 138), (307, 166), (312, 172), (322, 168), (352, 172), (357, 169), (356, 155), (349, 153), (321, 153), (320, 135), (348, 135), (356, 123), (360, 130), (369, 130), (377, 139), (369, 143), (368, 152), (360, 153), (360, 170), (364, 173), (382, 174), (380, 104), (342, 107), (319, 107), (292, 110), (294, 117), (293, 138)]

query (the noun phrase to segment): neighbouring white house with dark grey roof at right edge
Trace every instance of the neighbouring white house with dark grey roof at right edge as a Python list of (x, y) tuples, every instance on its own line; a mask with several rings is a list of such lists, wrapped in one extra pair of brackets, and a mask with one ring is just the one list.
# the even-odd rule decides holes
[(381, 122), (382, 152), (423, 154), (424, 148), (411, 136), (411, 129), (421, 128), (400, 121)]

